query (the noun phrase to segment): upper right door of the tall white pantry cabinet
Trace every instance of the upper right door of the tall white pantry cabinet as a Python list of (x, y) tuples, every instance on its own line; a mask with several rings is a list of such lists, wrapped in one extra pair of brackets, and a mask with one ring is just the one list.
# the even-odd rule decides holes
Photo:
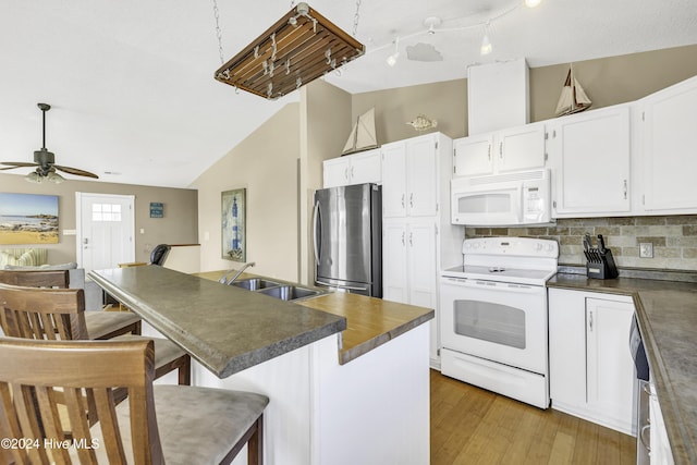
[(436, 139), (424, 137), (406, 144), (407, 213), (432, 217), (438, 213), (438, 161)]

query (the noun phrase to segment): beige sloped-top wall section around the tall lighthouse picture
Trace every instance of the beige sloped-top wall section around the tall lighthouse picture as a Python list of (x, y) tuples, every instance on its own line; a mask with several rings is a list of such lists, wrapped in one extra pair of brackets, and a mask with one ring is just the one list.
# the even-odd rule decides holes
[(252, 272), (296, 281), (298, 103), (281, 109), (191, 185), (198, 189), (201, 271), (239, 268), (221, 258), (221, 193), (246, 188), (246, 259)]

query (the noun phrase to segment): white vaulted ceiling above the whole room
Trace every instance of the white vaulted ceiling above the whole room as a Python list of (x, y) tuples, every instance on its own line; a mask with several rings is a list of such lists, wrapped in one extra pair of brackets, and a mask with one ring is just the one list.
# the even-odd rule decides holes
[[(0, 2), (0, 161), (33, 161), (47, 113), (56, 162), (100, 181), (186, 187), (289, 101), (213, 81), (220, 66), (211, 1)], [(291, 2), (218, 0), (225, 60), (285, 14)], [(356, 2), (310, 7), (353, 33)], [(438, 16), (436, 34), (424, 20)], [(491, 20), (491, 21), (490, 21)], [(479, 54), (490, 21), (493, 52)], [(348, 93), (466, 76), (467, 66), (525, 57), (533, 68), (697, 44), (695, 0), (362, 0), (365, 57), (325, 78)], [(394, 68), (386, 58), (400, 39)], [(442, 61), (406, 59), (432, 45)], [(348, 132), (348, 129), (346, 130)], [(264, 154), (254, 154), (262, 157)], [(25, 174), (29, 169), (4, 171)], [(107, 172), (118, 173), (108, 174)], [(73, 178), (66, 175), (66, 178)]]

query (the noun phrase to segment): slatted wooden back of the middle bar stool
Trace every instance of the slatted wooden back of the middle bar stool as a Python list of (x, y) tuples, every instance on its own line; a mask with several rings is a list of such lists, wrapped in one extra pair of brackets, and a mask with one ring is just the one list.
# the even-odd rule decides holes
[(0, 284), (0, 326), (13, 338), (88, 339), (84, 291)]

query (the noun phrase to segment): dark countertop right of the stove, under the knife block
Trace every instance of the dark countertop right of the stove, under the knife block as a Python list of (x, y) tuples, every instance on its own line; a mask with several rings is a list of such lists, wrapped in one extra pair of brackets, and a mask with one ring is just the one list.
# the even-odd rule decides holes
[(633, 296), (673, 458), (697, 463), (697, 283), (558, 273), (547, 285)]

